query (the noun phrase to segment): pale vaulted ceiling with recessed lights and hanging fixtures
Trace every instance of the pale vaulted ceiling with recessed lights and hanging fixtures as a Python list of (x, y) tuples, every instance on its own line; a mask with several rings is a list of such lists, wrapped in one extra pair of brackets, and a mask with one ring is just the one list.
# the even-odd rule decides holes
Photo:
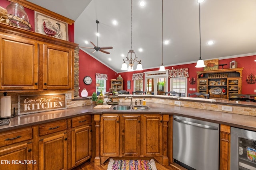
[[(75, 43), (80, 47), (96, 44), (112, 46), (92, 57), (116, 72), (131, 49), (131, 0), (28, 0), (75, 21)], [(200, 55), (199, 4), (197, 0), (132, 0), (132, 49), (142, 66), (196, 63)], [(202, 59), (224, 59), (256, 54), (256, 0), (205, 0), (200, 5)], [(116, 20), (117, 25), (112, 21)], [(212, 40), (213, 44), (208, 45)], [(140, 52), (139, 49), (142, 49)], [(93, 49), (81, 48), (86, 53)], [(121, 55), (124, 55), (122, 57)], [(135, 67), (136, 67), (135, 63)], [(196, 64), (195, 64), (196, 65)]]

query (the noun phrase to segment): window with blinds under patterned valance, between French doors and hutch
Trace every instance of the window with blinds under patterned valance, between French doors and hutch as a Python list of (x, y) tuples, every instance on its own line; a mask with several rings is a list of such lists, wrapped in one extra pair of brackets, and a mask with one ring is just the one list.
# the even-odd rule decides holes
[(170, 78), (170, 91), (179, 92), (182, 97), (187, 96), (187, 79), (186, 77)]

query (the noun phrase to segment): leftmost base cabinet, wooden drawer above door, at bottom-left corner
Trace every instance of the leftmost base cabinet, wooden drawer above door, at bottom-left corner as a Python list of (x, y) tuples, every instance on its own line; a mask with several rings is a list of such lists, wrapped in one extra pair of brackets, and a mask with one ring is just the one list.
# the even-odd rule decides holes
[[(32, 170), (32, 128), (0, 133), (0, 168)], [(26, 160), (30, 162), (25, 162)]]

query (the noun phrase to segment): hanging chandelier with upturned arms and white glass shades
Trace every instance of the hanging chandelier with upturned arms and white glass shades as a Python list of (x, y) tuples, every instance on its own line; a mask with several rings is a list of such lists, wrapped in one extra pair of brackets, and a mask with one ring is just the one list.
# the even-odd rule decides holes
[[(132, 10), (131, 10), (131, 14), (132, 14)], [(134, 54), (134, 58), (132, 57), (133, 54)], [(130, 56), (130, 58), (129, 58), (129, 56)], [(122, 64), (121, 70), (133, 71), (134, 62), (138, 62), (136, 70), (143, 70), (142, 64), (140, 63), (141, 60), (138, 61), (137, 59), (138, 59), (138, 57), (136, 57), (135, 52), (132, 50), (132, 15), (131, 15), (131, 49), (129, 50), (129, 52), (127, 54), (126, 60), (123, 59), (124, 63)], [(128, 61), (128, 63), (129, 63), (128, 68), (127, 68), (127, 64), (125, 63), (126, 61)]]

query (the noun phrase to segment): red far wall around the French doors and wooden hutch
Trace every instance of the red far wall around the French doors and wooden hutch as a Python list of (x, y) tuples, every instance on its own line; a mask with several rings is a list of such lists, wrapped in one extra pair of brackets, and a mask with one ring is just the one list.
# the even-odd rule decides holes
[[(229, 64), (231, 61), (236, 61), (237, 67), (238, 68), (244, 68), (242, 71), (242, 94), (256, 94), (254, 92), (254, 89), (256, 89), (256, 84), (248, 84), (246, 82), (246, 77), (249, 74), (254, 74), (256, 75), (256, 62), (254, 62), (254, 60), (256, 59), (256, 55), (253, 56), (248, 56), (248, 57), (238, 57), (238, 58), (234, 58), (234, 59), (223, 59), (223, 60), (219, 60), (219, 64), (228, 64), (226, 66), (224, 66), (224, 68), (229, 68)], [(142, 63), (143, 65), (143, 63)], [(189, 73), (189, 77), (194, 77), (196, 82), (197, 82), (197, 78), (196, 78), (196, 72), (197, 71), (202, 71), (204, 70), (203, 68), (196, 68), (196, 63), (193, 64), (183, 64), (183, 65), (177, 65), (177, 66), (169, 66), (169, 67), (165, 67), (166, 69), (178, 69), (178, 68), (188, 68), (188, 73)], [(220, 67), (222, 68), (222, 67)], [(127, 80), (131, 80), (131, 89), (127, 90), (130, 91), (130, 93), (132, 93), (133, 91), (133, 80), (132, 80), (132, 74), (133, 73), (138, 73), (138, 72), (145, 72), (145, 71), (153, 71), (153, 70), (158, 70), (159, 68), (154, 68), (154, 69), (147, 69), (147, 70), (142, 70), (142, 71), (134, 71), (134, 72), (124, 72), (124, 73), (120, 73), (122, 75), (122, 78), (124, 79), (124, 90), (127, 90)], [(168, 87), (168, 91), (170, 91), (170, 83), (169, 87)], [(195, 84), (190, 84), (189, 83), (189, 78), (188, 78), (188, 93), (193, 93), (195, 91), (190, 91), (190, 88), (195, 88), (197, 89), (197, 85)]]

